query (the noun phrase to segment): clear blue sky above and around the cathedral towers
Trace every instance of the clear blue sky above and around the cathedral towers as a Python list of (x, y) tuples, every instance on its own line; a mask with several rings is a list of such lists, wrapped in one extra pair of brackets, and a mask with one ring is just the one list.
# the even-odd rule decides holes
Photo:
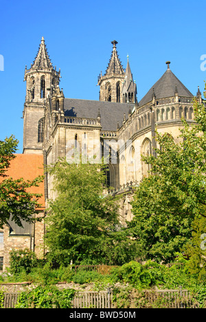
[(129, 55), (137, 98), (165, 72), (165, 61), (180, 81), (203, 93), (206, 71), (205, 1), (1, 1), (0, 140), (14, 136), (23, 146), (22, 111), (25, 65), (33, 63), (41, 37), (53, 65), (61, 69), (67, 98), (99, 99), (98, 74), (104, 73), (114, 39), (126, 67)]

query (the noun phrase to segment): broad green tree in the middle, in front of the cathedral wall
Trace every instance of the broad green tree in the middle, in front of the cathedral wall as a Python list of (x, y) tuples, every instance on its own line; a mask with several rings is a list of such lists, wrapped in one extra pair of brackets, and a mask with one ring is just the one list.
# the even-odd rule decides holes
[(99, 164), (60, 160), (49, 173), (57, 196), (49, 203), (45, 240), (56, 261), (122, 264), (133, 256), (135, 243), (119, 224), (118, 200), (103, 194)]

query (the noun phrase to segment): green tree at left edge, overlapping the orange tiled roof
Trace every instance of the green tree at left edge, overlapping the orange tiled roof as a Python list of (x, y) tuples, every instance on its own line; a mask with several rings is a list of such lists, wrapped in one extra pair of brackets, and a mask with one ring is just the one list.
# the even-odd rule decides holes
[(19, 141), (10, 136), (5, 140), (0, 140), (0, 227), (12, 219), (16, 224), (22, 226), (21, 221), (32, 222), (33, 214), (38, 204), (41, 194), (29, 193), (27, 189), (38, 186), (43, 181), (43, 176), (34, 180), (13, 180), (9, 178), (6, 171), (10, 167), (10, 162), (15, 158), (14, 153)]

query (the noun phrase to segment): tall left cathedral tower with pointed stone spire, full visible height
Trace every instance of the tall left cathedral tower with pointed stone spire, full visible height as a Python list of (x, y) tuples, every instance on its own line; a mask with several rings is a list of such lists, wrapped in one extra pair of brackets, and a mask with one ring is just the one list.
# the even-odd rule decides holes
[(26, 96), (23, 110), (23, 153), (43, 153), (45, 100), (53, 96), (60, 81), (47, 53), (42, 37), (38, 53), (30, 69), (25, 67)]

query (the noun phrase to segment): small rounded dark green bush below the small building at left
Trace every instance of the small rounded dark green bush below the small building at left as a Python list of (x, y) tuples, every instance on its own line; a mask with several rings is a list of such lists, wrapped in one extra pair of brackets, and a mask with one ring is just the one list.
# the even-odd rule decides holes
[(12, 250), (10, 252), (10, 272), (18, 274), (25, 270), (26, 273), (31, 272), (33, 267), (37, 266), (37, 259), (34, 252), (29, 249)]

